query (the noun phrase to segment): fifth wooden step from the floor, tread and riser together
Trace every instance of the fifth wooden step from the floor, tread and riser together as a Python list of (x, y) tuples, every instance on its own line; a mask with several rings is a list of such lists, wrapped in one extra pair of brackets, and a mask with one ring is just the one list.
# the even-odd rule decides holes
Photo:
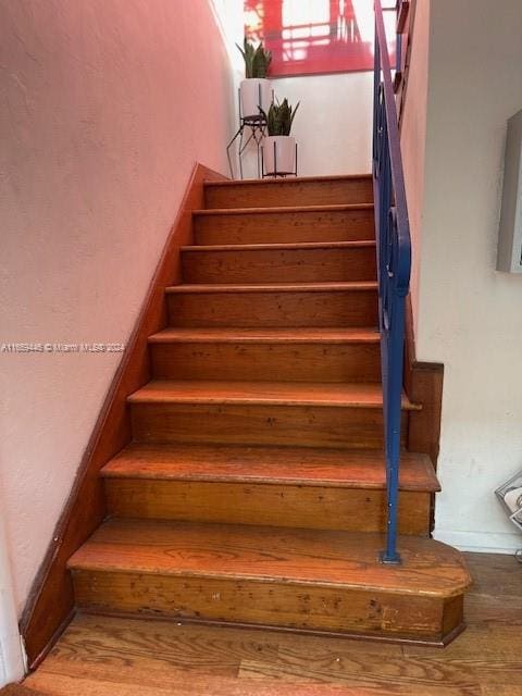
[(377, 284), (175, 285), (165, 289), (175, 326), (376, 326)]

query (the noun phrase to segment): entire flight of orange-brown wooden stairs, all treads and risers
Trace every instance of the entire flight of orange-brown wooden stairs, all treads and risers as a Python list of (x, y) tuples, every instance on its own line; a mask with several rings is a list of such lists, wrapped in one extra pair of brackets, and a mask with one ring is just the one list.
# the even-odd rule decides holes
[(104, 467), (110, 518), (71, 558), (83, 611), (445, 644), (470, 584), (428, 537), (438, 490), (406, 451), (401, 566), (386, 526), (369, 176), (206, 185)]

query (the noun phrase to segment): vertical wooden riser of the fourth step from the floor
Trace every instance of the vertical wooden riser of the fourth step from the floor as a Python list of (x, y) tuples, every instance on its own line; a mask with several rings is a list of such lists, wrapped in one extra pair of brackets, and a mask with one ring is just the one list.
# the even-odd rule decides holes
[(378, 382), (378, 343), (151, 344), (158, 380)]

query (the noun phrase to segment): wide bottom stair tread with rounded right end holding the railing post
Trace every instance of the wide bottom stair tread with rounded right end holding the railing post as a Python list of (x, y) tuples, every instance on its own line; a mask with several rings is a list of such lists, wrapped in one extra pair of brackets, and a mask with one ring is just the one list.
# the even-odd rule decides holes
[(378, 562), (383, 545), (382, 535), (369, 533), (112, 519), (69, 568), (431, 597), (456, 596), (471, 584), (460, 554), (439, 542), (400, 537), (401, 566)]

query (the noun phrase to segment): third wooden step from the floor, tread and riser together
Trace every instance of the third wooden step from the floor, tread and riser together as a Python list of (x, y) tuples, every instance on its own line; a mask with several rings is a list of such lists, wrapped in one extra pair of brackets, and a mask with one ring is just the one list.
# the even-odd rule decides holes
[(156, 381), (128, 401), (138, 442), (383, 446), (380, 384)]

